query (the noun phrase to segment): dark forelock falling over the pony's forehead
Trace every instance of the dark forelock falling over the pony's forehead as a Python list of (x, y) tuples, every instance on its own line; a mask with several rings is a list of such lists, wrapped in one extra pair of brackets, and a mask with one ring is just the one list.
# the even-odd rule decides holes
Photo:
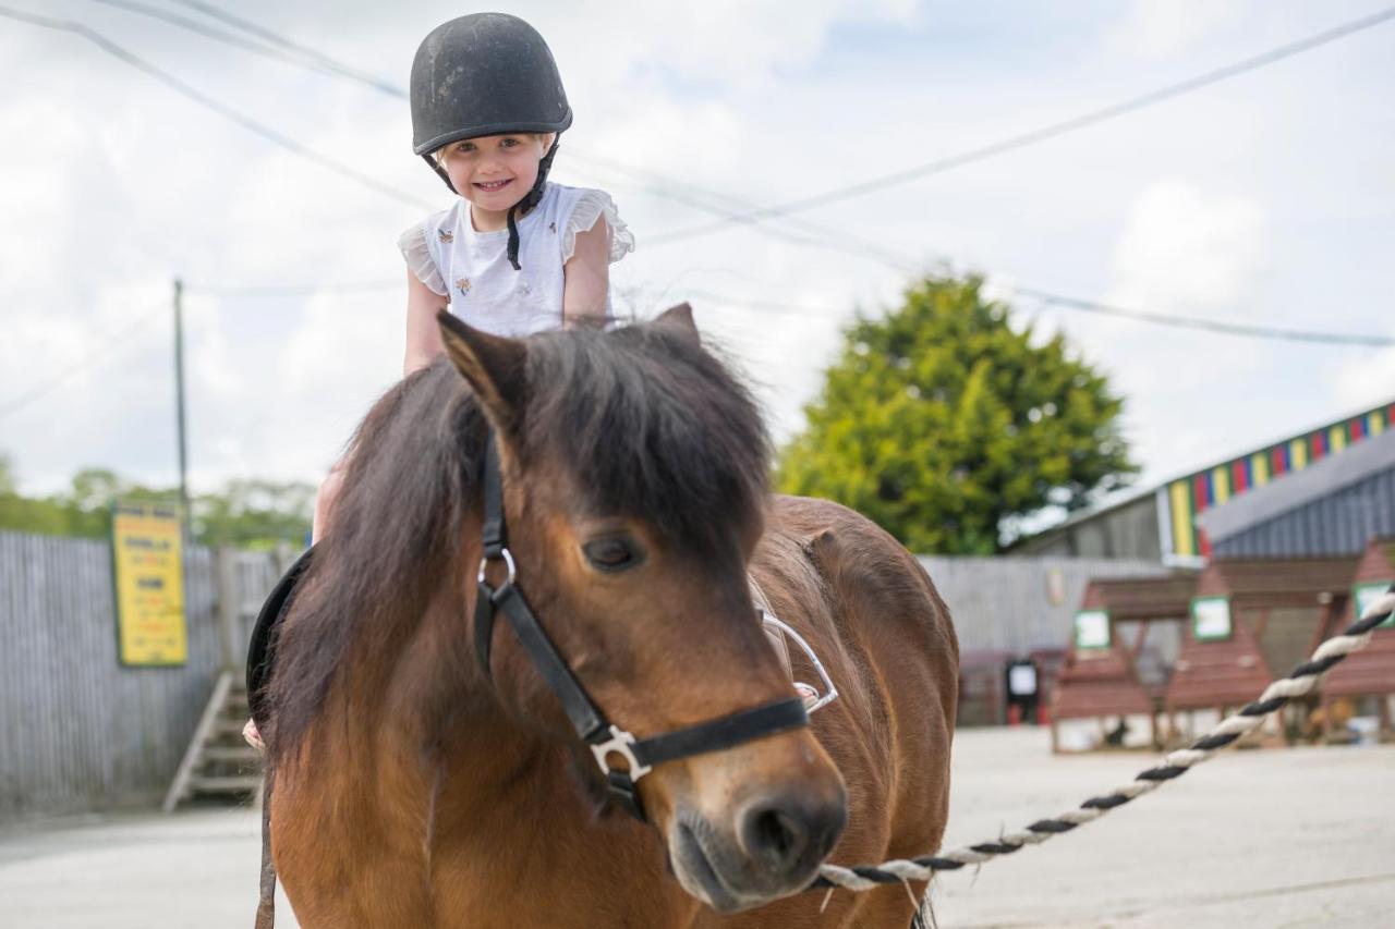
[(710, 552), (759, 512), (770, 451), (745, 388), (677, 324), (529, 342), (526, 453), (576, 464), (596, 513), (646, 520)]

